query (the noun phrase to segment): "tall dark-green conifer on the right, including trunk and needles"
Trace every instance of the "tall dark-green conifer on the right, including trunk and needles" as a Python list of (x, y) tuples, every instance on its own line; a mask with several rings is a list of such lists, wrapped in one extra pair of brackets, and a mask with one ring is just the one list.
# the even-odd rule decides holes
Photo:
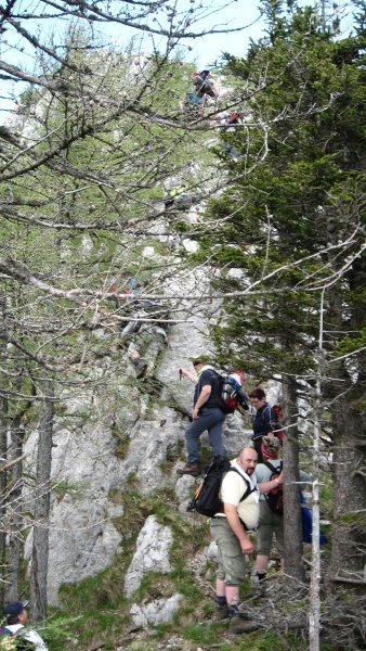
[[(292, 463), (292, 482), (298, 398), (313, 401), (321, 333), (322, 424), (335, 461), (328, 580), (332, 587), (348, 579), (357, 585), (365, 560), (358, 513), (366, 497), (361, 438), (365, 40), (362, 29), (335, 40), (314, 9), (263, 5), (267, 36), (251, 43), (243, 61), (227, 58), (249, 99), (245, 126), (223, 136), (240, 157), (227, 157), (232, 186), (212, 202), (215, 230), (202, 233), (205, 251), (222, 269), (218, 288), (228, 294), (214, 335), (221, 358), (236, 359), (258, 379), (282, 375), (289, 425), (284, 461)], [(234, 267), (241, 270), (240, 280), (227, 273)], [(310, 413), (310, 429), (311, 423)], [(288, 515), (295, 508), (295, 493), (289, 495)], [(288, 536), (287, 541), (292, 542)], [(291, 565), (291, 554), (286, 561)]]

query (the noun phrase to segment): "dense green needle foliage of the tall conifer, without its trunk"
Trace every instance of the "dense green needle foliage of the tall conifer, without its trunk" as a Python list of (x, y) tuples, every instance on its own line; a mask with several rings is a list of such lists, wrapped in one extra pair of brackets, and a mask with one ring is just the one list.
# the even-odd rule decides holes
[[(252, 42), (246, 59), (227, 58), (228, 72), (248, 90), (265, 84), (246, 107), (249, 122), (258, 126), (245, 136), (241, 130), (223, 136), (241, 153), (235, 170), (244, 174), (211, 202), (215, 228), (202, 234), (197, 255), (210, 255), (222, 269), (219, 290), (247, 289), (226, 299), (225, 318), (213, 327), (213, 337), (220, 361), (234, 358), (239, 365), (243, 358), (241, 366), (259, 379), (314, 371), (319, 293), (331, 273), (339, 275), (344, 309), (352, 305), (356, 314), (362, 308), (360, 282), (351, 286), (357, 260), (350, 273), (341, 269), (351, 251), (362, 247), (365, 184), (362, 39), (334, 41), (314, 9), (263, 4), (267, 37)], [(329, 244), (349, 238), (350, 245), (325, 253)], [(231, 279), (231, 268), (241, 269), (245, 281)], [(326, 350), (357, 350), (364, 343), (358, 323), (350, 335), (350, 319), (340, 323), (331, 306), (329, 289), (327, 327), (344, 330), (344, 337), (326, 337)]]

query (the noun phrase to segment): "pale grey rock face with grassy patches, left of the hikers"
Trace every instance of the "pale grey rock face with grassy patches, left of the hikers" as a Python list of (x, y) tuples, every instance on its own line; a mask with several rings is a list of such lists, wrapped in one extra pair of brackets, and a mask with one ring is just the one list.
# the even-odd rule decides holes
[[(206, 286), (204, 275), (187, 276), (184, 280), (173, 279), (167, 291), (192, 295), (202, 293)], [(187, 516), (194, 481), (178, 478), (175, 469), (184, 460), (184, 431), (194, 385), (187, 379), (180, 381), (178, 371), (180, 367), (189, 368), (197, 355), (209, 354), (208, 324), (219, 308), (218, 302), (201, 304), (188, 321), (169, 329), (152, 323), (133, 327), (127, 334), (116, 333), (114, 339), (103, 331), (99, 333), (103, 343), (115, 348), (118, 344), (119, 371), (116, 373), (110, 359), (104, 357), (93, 369), (97, 391), (82, 390), (65, 396), (66, 416), (54, 424), (50, 604), (57, 603), (61, 584), (92, 576), (113, 562), (126, 535), (116, 526), (123, 516), (123, 507), (114, 495), (128, 493), (131, 478), (143, 497), (156, 489), (174, 489), (178, 512)], [(181, 310), (174, 312), (178, 321), (189, 314), (184, 301)], [(227, 454), (236, 455), (249, 435), (239, 414), (228, 417), (224, 425)], [(37, 438), (35, 431), (27, 442), (30, 463), (35, 461)], [(206, 434), (201, 445), (209, 447)], [(171, 458), (177, 464), (167, 473), (164, 464)], [(170, 571), (171, 541), (170, 529), (161, 527), (154, 516), (147, 518), (126, 576), (128, 597), (146, 573)], [(27, 558), (30, 542), (31, 536), (26, 544)], [(153, 620), (166, 621), (179, 600), (174, 596), (144, 608), (135, 605), (133, 617), (143, 626)]]

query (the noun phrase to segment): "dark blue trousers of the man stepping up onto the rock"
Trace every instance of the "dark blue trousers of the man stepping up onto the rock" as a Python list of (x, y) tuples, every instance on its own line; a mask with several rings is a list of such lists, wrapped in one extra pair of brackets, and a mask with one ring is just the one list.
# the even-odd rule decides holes
[(223, 457), (225, 448), (222, 444), (222, 425), (225, 413), (218, 407), (202, 407), (197, 420), (193, 420), (185, 431), (187, 463), (199, 463), (198, 438), (207, 430), (214, 457)]

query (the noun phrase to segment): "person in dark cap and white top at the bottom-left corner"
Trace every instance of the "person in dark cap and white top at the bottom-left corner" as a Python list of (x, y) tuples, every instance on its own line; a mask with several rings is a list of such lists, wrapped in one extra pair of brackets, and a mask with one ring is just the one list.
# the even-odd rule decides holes
[(25, 649), (35, 651), (47, 651), (47, 646), (44, 644), (42, 638), (36, 630), (31, 630), (25, 628), (28, 623), (28, 601), (11, 601), (6, 603), (4, 608), (4, 615), (6, 617), (6, 623), (4, 627), (1, 629), (1, 637), (10, 637), (10, 638), (19, 638), (19, 642), (16, 642), (17, 649)]

